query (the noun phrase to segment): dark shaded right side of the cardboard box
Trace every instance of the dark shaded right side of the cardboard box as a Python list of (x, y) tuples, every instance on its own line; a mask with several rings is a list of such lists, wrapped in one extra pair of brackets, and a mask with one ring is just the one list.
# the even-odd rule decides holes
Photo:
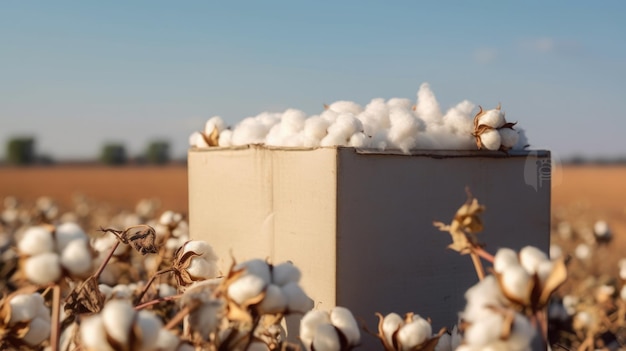
[(479, 238), (488, 251), (525, 245), (547, 251), (550, 180), (544, 161), (549, 154), (431, 158), (342, 150), (337, 303), (370, 328), (376, 327), (375, 312), (410, 311), (431, 317), (433, 330), (452, 327), (477, 278), (469, 256), (446, 249), (449, 234), (432, 222), (450, 222), (469, 186), (487, 207)]

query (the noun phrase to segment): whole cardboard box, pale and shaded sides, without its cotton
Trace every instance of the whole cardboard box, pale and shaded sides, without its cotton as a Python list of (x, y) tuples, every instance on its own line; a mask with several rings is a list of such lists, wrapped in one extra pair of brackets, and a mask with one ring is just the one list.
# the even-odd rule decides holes
[(450, 222), (466, 186), (487, 206), (487, 251), (549, 248), (548, 151), (250, 146), (188, 156), (191, 235), (224, 271), (231, 254), (293, 261), (317, 308), (348, 307), (372, 330), (375, 312), (415, 312), (434, 330), (457, 322), (477, 277), (432, 222)]

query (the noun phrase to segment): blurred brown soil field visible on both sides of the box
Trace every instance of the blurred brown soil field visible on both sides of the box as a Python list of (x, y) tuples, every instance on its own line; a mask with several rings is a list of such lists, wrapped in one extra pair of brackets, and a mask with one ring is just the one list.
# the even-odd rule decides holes
[[(626, 167), (565, 166), (556, 175), (552, 209), (557, 216), (585, 212), (606, 218), (626, 235)], [(187, 213), (187, 168), (99, 165), (0, 168), (0, 198), (12, 195), (24, 202), (50, 196), (70, 206), (75, 194), (132, 209), (144, 198), (158, 198), (163, 209)], [(612, 224), (612, 223), (611, 223)]]

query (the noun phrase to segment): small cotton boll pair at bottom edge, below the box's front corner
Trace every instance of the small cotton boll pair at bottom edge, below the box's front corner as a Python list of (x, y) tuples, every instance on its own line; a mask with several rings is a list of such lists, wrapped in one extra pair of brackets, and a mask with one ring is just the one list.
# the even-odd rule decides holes
[(309, 311), (300, 321), (300, 340), (306, 350), (351, 350), (361, 342), (352, 312), (337, 306), (330, 312)]

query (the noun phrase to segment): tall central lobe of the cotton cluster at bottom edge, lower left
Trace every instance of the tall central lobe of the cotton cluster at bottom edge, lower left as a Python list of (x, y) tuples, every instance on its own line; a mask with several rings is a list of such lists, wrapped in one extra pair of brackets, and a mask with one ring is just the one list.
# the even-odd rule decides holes
[(107, 334), (126, 345), (135, 319), (135, 309), (128, 300), (111, 300), (100, 312)]

